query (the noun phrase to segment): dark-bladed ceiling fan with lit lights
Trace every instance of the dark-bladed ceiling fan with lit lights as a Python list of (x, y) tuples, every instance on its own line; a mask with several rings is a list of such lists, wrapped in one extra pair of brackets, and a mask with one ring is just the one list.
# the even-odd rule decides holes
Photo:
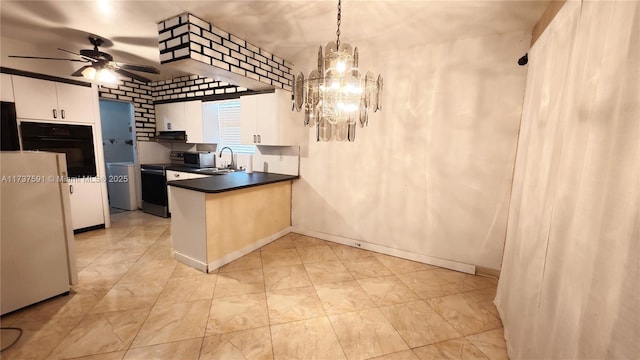
[(130, 77), (132, 79), (136, 79), (143, 83), (148, 83), (151, 80), (145, 78), (144, 76), (140, 76), (138, 74), (134, 74), (130, 71), (138, 71), (145, 72), (150, 74), (159, 74), (160, 71), (153, 66), (147, 65), (133, 65), (133, 64), (125, 64), (121, 62), (113, 61), (113, 57), (105, 52), (102, 52), (98, 49), (104, 43), (104, 39), (99, 37), (89, 36), (89, 42), (93, 45), (93, 49), (83, 49), (80, 50), (80, 53), (75, 53), (73, 51), (65, 50), (58, 48), (60, 51), (64, 51), (73, 55), (77, 55), (80, 59), (65, 59), (65, 58), (52, 58), (52, 57), (39, 57), (39, 56), (17, 56), (17, 55), (9, 55), (9, 57), (13, 58), (22, 58), (22, 59), (43, 59), (43, 60), (65, 60), (65, 61), (76, 61), (82, 63), (88, 63), (76, 70), (71, 76), (84, 76), (90, 80), (115, 80), (115, 75), (118, 73), (123, 76)]

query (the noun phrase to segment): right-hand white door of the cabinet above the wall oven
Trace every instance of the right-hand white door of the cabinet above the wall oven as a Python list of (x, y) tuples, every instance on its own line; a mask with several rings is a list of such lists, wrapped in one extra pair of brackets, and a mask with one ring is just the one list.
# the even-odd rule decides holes
[(65, 83), (55, 84), (60, 111), (59, 120), (95, 123), (93, 88)]

